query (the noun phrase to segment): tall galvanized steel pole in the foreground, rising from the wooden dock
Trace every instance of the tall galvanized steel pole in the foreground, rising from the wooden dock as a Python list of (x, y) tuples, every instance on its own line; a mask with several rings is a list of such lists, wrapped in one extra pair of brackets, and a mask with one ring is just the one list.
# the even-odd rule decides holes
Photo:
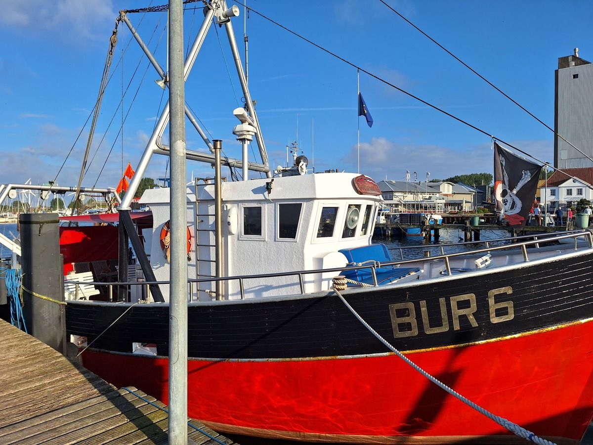
[(169, 1), (169, 104), (171, 286), (168, 443), (187, 445), (187, 198), (182, 0)]

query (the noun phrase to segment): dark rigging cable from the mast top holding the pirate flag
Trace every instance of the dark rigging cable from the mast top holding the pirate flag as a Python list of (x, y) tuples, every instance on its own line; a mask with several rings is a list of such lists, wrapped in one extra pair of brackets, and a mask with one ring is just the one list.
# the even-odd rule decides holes
[[(441, 112), (441, 113), (442, 113), (442, 114), (444, 114), (445, 116), (449, 116), (449, 117), (451, 117), (452, 119), (455, 119), (455, 120), (457, 120), (457, 122), (463, 123), (464, 125), (466, 125), (466, 126), (468, 126), (468, 127), (472, 128), (472, 129), (476, 130), (477, 132), (480, 132), (480, 133), (482, 133), (482, 134), (484, 134), (484, 135), (488, 136), (489, 138), (492, 138), (492, 139), (495, 139), (496, 141), (502, 142), (503, 144), (507, 145), (508, 147), (511, 147), (512, 149), (514, 149), (514, 150), (517, 150), (518, 152), (520, 152), (520, 153), (522, 153), (522, 154), (524, 154), (524, 155), (526, 155), (526, 156), (528, 156), (528, 157), (532, 158), (533, 160), (537, 161), (538, 163), (541, 163), (541, 164), (542, 164), (542, 167), (543, 167), (544, 165), (546, 165), (546, 162), (544, 162), (544, 161), (540, 160), (539, 158), (536, 158), (534, 155), (531, 155), (531, 154), (529, 154), (528, 152), (525, 152), (525, 151), (521, 150), (520, 148), (518, 148), (518, 147), (515, 147), (515, 145), (512, 145), (511, 143), (509, 143), (509, 142), (506, 142), (506, 141), (504, 141), (503, 139), (500, 139), (500, 138), (498, 138), (498, 137), (496, 137), (496, 136), (494, 136), (494, 135), (490, 134), (489, 132), (485, 131), (484, 129), (482, 129), (482, 128), (479, 128), (479, 127), (477, 127), (476, 125), (473, 125), (473, 124), (471, 124), (471, 123), (467, 122), (466, 120), (463, 120), (463, 119), (461, 119), (461, 117), (457, 117), (457, 116), (455, 116), (455, 115), (453, 115), (453, 114), (451, 114), (451, 113), (449, 113), (449, 112), (447, 112), (447, 111), (443, 110), (442, 108), (439, 108), (439, 107), (437, 107), (436, 105), (433, 105), (433, 104), (431, 104), (430, 102), (428, 102), (428, 101), (426, 101), (426, 100), (424, 100), (424, 99), (422, 99), (422, 98), (420, 98), (420, 97), (418, 97), (418, 96), (415, 96), (414, 94), (410, 93), (409, 91), (406, 91), (406, 90), (404, 90), (403, 88), (397, 87), (396, 85), (392, 84), (391, 82), (388, 82), (387, 80), (385, 80), (385, 79), (383, 79), (383, 78), (379, 77), (378, 75), (372, 74), (372, 72), (370, 72), (370, 71), (367, 71), (366, 69), (362, 68), (361, 66), (358, 66), (358, 65), (356, 65), (355, 63), (353, 63), (353, 62), (350, 62), (350, 61), (346, 60), (345, 58), (343, 58), (342, 56), (339, 56), (339, 55), (337, 55), (337, 54), (336, 54), (336, 53), (334, 53), (334, 52), (331, 52), (329, 49), (326, 49), (326, 48), (324, 48), (323, 46), (321, 46), (321, 45), (318, 45), (317, 43), (315, 43), (315, 42), (313, 42), (313, 41), (311, 41), (311, 40), (307, 39), (307, 37), (301, 36), (301, 34), (298, 34), (297, 32), (295, 32), (295, 31), (292, 31), (291, 29), (289, 29), (289, 28), (287, 28), (287, 27), (283, 26), (282, 24), (278, 23), (278, 22), (277, 22), (277, 21), (275, 21), (275, 20), (272, 20), (272, 18), (269, 18), (269, 17), (267, 17), (266, 15), (262, 14), (261, 12), (258, 12), (258, 11), (256, 11), (255, 9), (253, 9), (253, 8), (251, 8), (251, 7), (248, 7), (247, 5), (245, 5), (245, 4), (243, 4), (243, 3), (241, 3), (239, 0), (232, 0), (232, 1), (234, 1), (234, 2), (235, 2), (235, 3), (237, 3), (237, 4), (240, 4), (240, 5), (242, 5), (243, 7), (245, 7), (245, 8), (247, 8), (247, 9), (249, 9), (251, 12), (254, 12), (255, 14), (257, 14), (257, 15), (259, 15), (260, 17), (264, 18), (265, 20), (269, 21), (270, 23), (273, 23), (273, 24), (275, 24), (276, 26), (278, 26), (278, 27), (282, 28), (283, 30), (285, 30), (285, 31), (288, 31), (288, 33), (291, 33), (292, 35), (294, 35), (294, 36), (298, 37), (299, 39), (301, 39), (301, 40), (304, 40), (305, 42), (309, 43), (310, 45), (313, 45), (313, 46), (314, 46), (314, 47), (316, 47), (317, 49), (320, 49), (320, 50), (322, 50), (323, 52), (326, 52), (327, 54), (329, 54), (330, 56), (333, 56), (334, 58), (336, 58), (336, 59), (338, 59), (338, 60), (340, 60), (340, 61), (342, 61), (342, 62), (346, 63), (347, 65), (350, 65), (350, 66), (352, 66), (352, 68), (359, 69), (360, 71), (364, 72), (365, 74), (369, 75), (370, 77), (372, 77), (372, 78), (374, 78), (374, 79), (376, 79), (376, 80), (378, 80), (378, 81), (380, 81), (380, 82), (384, 83), (385, 85), (388, 85), (388, 86), (390, 86), (391, 88), (394, 88), (394, 89), (395, 89), (395, 90), (397, 90), (397, 91), (400, 91), (400, 93), (406, 94), (406, 96), (409, 96), (409, 97), (411, 97), (411, 98), (413, 98), (413, 99), (415, 99), (415, 100), (419, 101), (420, 103), (423, 103), (423, 104), (425, 104), (426, 106), (429, 106), (429, 107), (431, 107), (432, 109), (434, 109), (434, 110), (436, 110), (436, 111), (438, 111), (438, 112)], [(557, 169), (556, 167), (553, 167), (553, 166), (551, 166), (551, 165), (549, 165), (549, 167), (550, 167), (551, 169), (554, 169), (554, 170), (558, 170), (558, 171), (560, 171), (560, 169)], [(582, 182), (582, 180), (581, 180), (581, 179), (579, 179), (578, 177), (572, 176), (572, 175), (570, 175), (570, 174), (566, 173), (565, 171), (562, 171), (562, 173), (563, 173), (563, 174), (566, 174), (566, 176), (568, 176), (568, 177), (570, 177), (570, 178), (572, 178), (572, 179), (575, 179), (575, 180), (578, 180), (579, 182)], [(586, 184), (585, 184), (585, 186), (587, 186), (587, 187), (589, 187), (589, 189), (592, 189), (592, 190), (593, 190), (593, 185), (586, 185)]]

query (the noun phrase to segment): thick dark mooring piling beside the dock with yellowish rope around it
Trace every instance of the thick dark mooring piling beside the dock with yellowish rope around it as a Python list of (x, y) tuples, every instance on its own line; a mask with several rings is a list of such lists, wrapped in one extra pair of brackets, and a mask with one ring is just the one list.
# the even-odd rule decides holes
[(21, 213), (19, 222), (25, 326), (28, 333), (63, 352), (65, 314), (59, 302), (64, 301), (64, 277), (58, 214)]

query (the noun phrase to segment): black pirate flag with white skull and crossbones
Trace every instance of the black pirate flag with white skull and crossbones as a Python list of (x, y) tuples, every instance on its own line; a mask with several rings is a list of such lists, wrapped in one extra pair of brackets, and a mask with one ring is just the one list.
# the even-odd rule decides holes
[(521, 229), (527, 222), (541, 167), (494, 142), (496, 211), (505, 217), (512, 228)]

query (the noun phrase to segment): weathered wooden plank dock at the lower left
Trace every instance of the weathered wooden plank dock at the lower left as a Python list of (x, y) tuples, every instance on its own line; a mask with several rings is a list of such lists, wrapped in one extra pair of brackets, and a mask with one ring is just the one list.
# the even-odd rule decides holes
[[(0, 320), (0, 445), (166, 444), (166, 406), (116, 387)], [(188, 419), (196, 444), (234, 444)]]

